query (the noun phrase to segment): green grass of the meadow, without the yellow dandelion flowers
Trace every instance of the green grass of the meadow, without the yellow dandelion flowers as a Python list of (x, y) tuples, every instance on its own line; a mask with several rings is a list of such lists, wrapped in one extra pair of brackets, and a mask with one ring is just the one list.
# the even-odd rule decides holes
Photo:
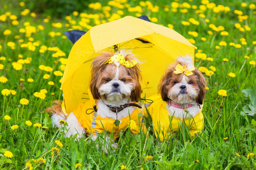
[[(108, 5), (107, 1), (100, 1), (102, 6)], [(185, 1), (184, 1), (185, 2)], [(219, 1), (213, 1), (216, 5), (220, 5)], [(153, 1), (154, 5), (159, 6), (159, 12), (152, 12), (146, 7), (142, 7), (141, 14), (148, 15), (151, 18), (157, 18), (156, 23), (167, 26), (172, 24), (174, 30), (179, 32), (187, 39), (195, 40), (195, 46), (198, 50), (203, 50), (202, 53), (207, 54), (207, 57), (213, 58), (213, 61), (196, 58), (196, 67), (216, 67), (216, 71), (208, 78), (207, 96), (204, 101), (204, 121), (205, 127), (203, 132), (195, 138), (189, 137), (188, 132), (184, 130), (173, 137), (170, 141), (159, 142), (155, 139), (152, 130), (149, 130), (149, 135), (145, 134), (134, 135), (130, 131), (119, 138), (119, 145), (117, 151), (110, 150), (109, 154), (104, 154), (104, 151), (98, 150), (96, 145), (102, 145), (102, 136), (95, 142), (89, 138), (82, 138), (80, 141), (75, 141), (73, 138), (64, 138), (63, 132), (51, 127), (51, 118), (44, 110), (51, 106), (53, 100), (62, 100), (62, 93), (60, 90), (60, 77), (53, 74), (54, 71), (60, 70), (60, 61), (58, 58), (53, 58), (54, 52), (46, 50), (40, 53), (40, 46), (47, 47), (57, 46), (66, 54), (64, 58), (68, 57), (68, 53), (72, 48), (72, 43), (68, 39), (63, 39), (64, 31), (72, 28), (72, 24), (65, 27), (69, 23), (68, 20), (51, 18), (48, 23), (43, 22), (43, 14), (38, 14), (35, 18), (30, 14), (26, 16), (20, 15), (24, 7), (20, 7), (19, 3), (6, 3), (1, 1), (0, 15), (6, 12), (17, 16), (18, 25), (11, 24), (9, 16), (6, 21), (0, 20), (0, 57), (5, 57), (6, 60), (0, 60), (3, 65), (3, 70), (0, 70), (0, 76), (5, 76), (8, 81), (0, 83), (0, 90), (9, 89), (15, 90), (16, 95), (0, 96), (0, 166), (3, 169), (23, 169), (26, 163), (31, 159), (43, 158), (46, 160), (42, 164), (32, 163), (32, 166), (38, 169), (75, 169), (77, 163), (81, 163), (81, 169), (121, 169), (121, 165), (125, 165), (127, 169), (256, 169), (256, 156), (247, 155), (250, 153), (256, 154), (256, 125), (254, 116), (241, 115), (243, 106), (249, 104), (249, 97), (245, 97), (242, 90), (252, 88), (255, 89), (256, 71), (255, 65), (250, 65), (250, 61), (255, 61), (256, 46), (256, 17), (255, 9), (250, 9), (251, 3), (256, 1), (246, 1), (247, 7), (241, 7), (242, 1), (227, 1), (223, 2), (224, 6), (228, 6), (230, 11), (213, 12), (212, 9), (203, 11), (205, 19), (200, 18), (199, 14), (195, 14), (195, 9), (188, 8), (187, 13), (171, 12), (171, 3), (169, 1)], [(127, 2), (131, 7), (139, 5), (139, 1)], [(183, 3), (179, 1), (178, 3)], [(190, 5), (199, 7), (201, 1), (192, 1)], [(126, 3), (125, 3), (126, 4)], [(166, 5), (169, 5), (166, 6)], [(170, 11), (164, 11), (164, 8), (169, 8)], [(117, 12), (119, 8), (112, 7), (109, 11), (110, 15)], [(198, 9), (197, 9), (198, 10)], [(248, 18), (242, 20), (238, 19), (238, 15), (234, 14), (234, 10), (243, 12), (243, 16)], [(136, 16), (139, 12), (129, 12), (127, 8), (123, 8), (123, 16)], [(31, 11), (33, 12), (33, 11)], [(100, 11), (86, 8), (87, 14), (99, 14)], [(70, 15), (73, 20), (76, 20), (79, 25), (80, 16)], [(102, 16), (101, 16), (102, 17)], [(102, 22), (102, 18), (100, 21)], [(105, 16), (104, 16), (105, 17)], [(1, 16), (0, 16), (1, 18)], [(199, 25), (190, 23), (188, 26), (181, 24), (181, 21), (188, 21), (189, 18), (194, 18), (199, 21)], [(108, 18), (103, 18), (108, 22)], [(21, 44), (29, 42), (25, 33), (20, 33), (20, 28), (25, 28), (24, 23), (29, 22), (30, 25), (38, 28), (38, 25), (43, 25), (43, 30), (32, 33), (31, 37), (34, 41), (39, 41), (39, 46), (35, 46), (35, 51), (28, 48), (21, 48)], [(52, 23), (60, 22), (63, 27), (52, 27)], [(248, 25), (251, 30), (241, 32), (234, 27), (235, 23)], [(221, 31), (216, 32), (209, 28), (209, 24), (214, 24), (216, 27), (222, 25), (225, 31), (229, 33), (228, 36), (221, 36)], [(89, 19), (88, 25), (94, 26), (94, 19)], [(87, 31), (87, 28), (81, 28)], [(10, 29), (10, 35), (3, 35), (6, 29)], [(49, 36), (49, 32), (60, 32), (61, 36)], [(195, 31), (199, 34), (197, 37), (189, 35), (189, 31)], [(208, 31), (212, 31), (213, 35), (209, 35)], [(18, 39), (15, 36), (19, 35)], [(206, 41), (202, 41), (201, 37), (205, 37)], [(230, 42), (235, 44), (242, 44), (241, 38), (247, 42), (241, 48), (230, 46)], [(19, 39), (24, 42), (19, 42)], [(15, 49), (7, 46), (7, 42), (15, 42)], [(219, 46), (220, 41), (225, 41), (226, 46)], [(254, 41), (254, 42), (253, 42)], [(12, 63), (17, 62), (18, 54), (23, 55), (23, 59), (31, 57), (31, 63), (23, 63), (22, 70), (15, 70)], [(245, 59), (244, 56), (249, 56)], [(228, 61), (224, 62), (223, 59)], [(46, 71), (39, 69), (39, 65), (50, 66), (53, 68), (52, 72), (48, 72), (49, 79), (43, 79)], [(62, 70), (63, 71), (63, 70)], [(228, 73), (236, 74), (232, 78)], [(24, 81), (20, 81), (20, 78)], [(34, 82), (27, 81), (28, 78), (34, 79)], [(49, 86), (48, 82), (55, 83), (54, 86)], [(35, 92), (46, 89), (48, 92), (45, 99), (39, 99), (34, 96)], [(221, 97), (218, 95), (219, 90), (226, 90), (227, 96)], [(54, 94), (52, 94), (54, 93)], [(20, 99), (25, 98), (29, 100), (28, 105), (20, 104)], [(5, 120), (4, 115), (9, 115), (11, 119)], [(25, 121), (30, 120), (34, 125), (36, 122), (46, 126), (49, 129), (43, 130), (27, 126)], [(18, 125), (19, 128), (11, 130), (11, 126)], [(6, 127), (6, 129), (5, 129)], [(152, 129), (148, 125), (148, 129)], [(224, 140), (224, 138), (228, 139)], [(63, 143), (63, 147), (56, 145), (55, 141), (59, 140)], [(52, 158), (51, 148), (58, 147), (60, 149), (59, 156)], [(6, 158), (3, 155), (5, 151), (11, 151), (13, 158)], [(240, 156), (237, 156), (237, 154)], [(146, 156), (153, 156), (153, 159), (146, 161)]]

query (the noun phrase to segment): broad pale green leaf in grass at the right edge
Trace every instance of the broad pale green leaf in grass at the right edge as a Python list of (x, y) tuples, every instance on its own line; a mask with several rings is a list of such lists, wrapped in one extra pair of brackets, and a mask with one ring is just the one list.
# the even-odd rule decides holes
[(250, 103), (243, 107), (242, 115), (248, 114), (250, 116), (254, 116), (256, 113), (256, 90), (255, 89), (245, 89), (242, 90), (246, 97), (249, 97)]

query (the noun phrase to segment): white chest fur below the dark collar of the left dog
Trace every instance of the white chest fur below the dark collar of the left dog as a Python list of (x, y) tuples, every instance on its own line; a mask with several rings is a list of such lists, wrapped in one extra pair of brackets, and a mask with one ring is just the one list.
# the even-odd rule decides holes
[(116, 114), (110, 111), (109, 108), (106, 106), (106, 104), (103, 103), (102, 100), (97, 101), (97, 107), (98, 107), (97, 114), (100, 115), (102, 118), (113, 118), (113, 119), (118, 118), (118, 120), (129, 116), (129, 114), (133, 113), (135, 109), (134, 107), (127, 107)]

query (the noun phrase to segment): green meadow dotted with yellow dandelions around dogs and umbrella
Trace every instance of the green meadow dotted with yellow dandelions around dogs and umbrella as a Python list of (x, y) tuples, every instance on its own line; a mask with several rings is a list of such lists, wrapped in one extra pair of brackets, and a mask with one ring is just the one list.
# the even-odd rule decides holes
[[(256, 1), (0, 1), (0, 169), (256, 169)], [(75, 142), (45, 112), (62, 100), (71, 29), (147, 15), (197, 46), (208, 79), (203, 132), (127, 131), (117, 151)], [(246, 90), (245, 89), (252, 89)], [(245, 95), (246, 94), (246, 95)], [(248, 108), (249, 105), (249, 108)], [(150, 129), (150, 126), (148, 126)], [(152, 128), (151, 128), (152, 129)]]

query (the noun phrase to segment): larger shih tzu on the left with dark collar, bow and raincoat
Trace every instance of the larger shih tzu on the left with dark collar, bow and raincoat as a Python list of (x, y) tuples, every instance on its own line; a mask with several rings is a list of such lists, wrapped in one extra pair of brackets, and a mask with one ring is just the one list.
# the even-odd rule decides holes
[[(141, 97), (141, 71), (137, 58), (124, 50), (114, 55), (103, 52), (94, 58), (91, 72), (90, 96), (93, 99), (80, 103), (68, 116), (61, 111), (60, 103), (48, 108), (52, 113), (52, 125), (60, 127), (59, 121), (65, 120), (68, 124), (66, 137), (77, 134), (77, 138), (81, 138), (84, 134), (93, 134), (93, 140), (105, 132), (106, 138), (115, 140), (120, 131), (129, 126), (132, 133), (139, 133), (143, 127), (138, 109), (142, 107), (135, 103)], [(112, 146), (117, 147), (117, 144)]]

